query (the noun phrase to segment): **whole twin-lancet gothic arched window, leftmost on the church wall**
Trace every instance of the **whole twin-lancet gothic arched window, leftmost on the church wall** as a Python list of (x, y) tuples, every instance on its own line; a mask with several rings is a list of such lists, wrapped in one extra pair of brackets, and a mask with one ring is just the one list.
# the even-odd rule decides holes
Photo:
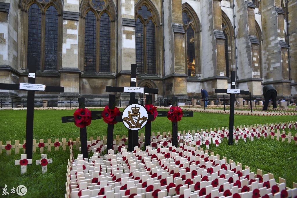
[[(62, 35), (58, 35), (59, 26), (62, 28), (62, 3), (60, 0), (23, 0), (20, 1), (21, 29), (20, 42), (25, 43), (20, 48), (26, 53), (20, 54), (20, 67), (26, 69), (30, 57), (36, 57), (37, 70), (58, 70), (61, 67)], [(27, 12), (26, 12), (27, 11)], [(25, 16), (28, 18), (25, 20)], [(26, 25), (28, 25), (26, 27)], [(24, 39), (23, 39), (24, 38)]]

